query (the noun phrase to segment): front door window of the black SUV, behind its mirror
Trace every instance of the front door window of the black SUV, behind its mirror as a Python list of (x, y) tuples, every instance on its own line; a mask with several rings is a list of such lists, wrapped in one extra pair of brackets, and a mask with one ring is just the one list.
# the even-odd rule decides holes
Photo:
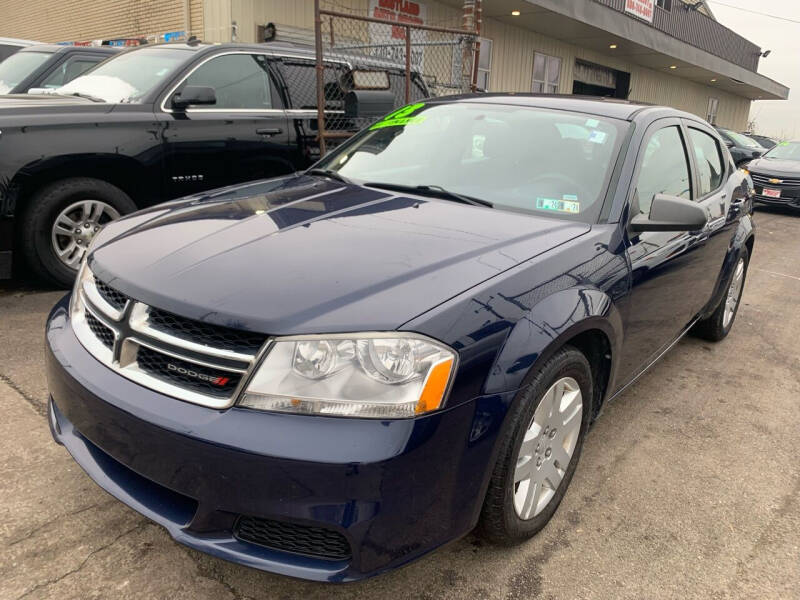
[(261, 54), (225, 54), (189, 75), (184, 85), (214, 88), (217, 103), (209, 108), (272, 108), (267, 59)]

